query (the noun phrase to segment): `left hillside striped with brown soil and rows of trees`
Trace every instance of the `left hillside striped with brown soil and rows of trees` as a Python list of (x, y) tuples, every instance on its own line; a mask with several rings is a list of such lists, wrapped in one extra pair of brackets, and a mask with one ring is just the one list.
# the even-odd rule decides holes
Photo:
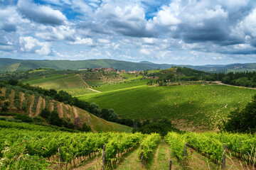
[[(5, 101), (9, 101), (8, 113), (24, 113), (34, 118), (41, 113), (43, 108), (48, 108), (50, 111), (58, 111), (60, 118), (70, 118), (70, 122), (74, 123), (75, 126), (80, 127), (82, 123), (90, 125), (92, 132), (127, 132), (132, 129), (108, 122), (78, 107), (51, 100), (49, 97), (43, 97), (31, 91), (18, 91), (15, 87), (14, 89), (2, 87), (0, 99), (1, 106)], [(0, 112), (4, 113), (2, 108), (0, 108)]]

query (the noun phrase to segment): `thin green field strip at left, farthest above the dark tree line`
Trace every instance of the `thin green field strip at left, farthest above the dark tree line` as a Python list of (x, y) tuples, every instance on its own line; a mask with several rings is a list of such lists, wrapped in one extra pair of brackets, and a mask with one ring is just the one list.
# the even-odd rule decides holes
[(31, 79), (23, 79), (21, 80), (21, 82), (23, 82), (23, 84), (41, 84), (41, 83), (45, 83), (47, 81), (53, 81), (53, 80), (58, 80), (58, 79), (63, 79), (63, 78), (67, 78), (67, 77), (72, 77), (75, 74), (67, 74), (67, 75), (63, 75), (63, 74), (48, 74), (47, 78), (43, 78), (43, 77), (33, 77)]

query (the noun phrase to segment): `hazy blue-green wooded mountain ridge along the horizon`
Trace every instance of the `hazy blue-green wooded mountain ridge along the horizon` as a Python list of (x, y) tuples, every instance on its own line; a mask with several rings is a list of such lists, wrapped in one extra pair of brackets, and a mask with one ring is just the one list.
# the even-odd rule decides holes
[(0, 72), (15, 72), (21, 70), (38, 69), (38, 68), (52, 68), (57, 70), (64, 69), (94, 69), (97, 67), (112, 67), (117, 70), (124, 69), (126, 71), (140, 71), (145, 69), (169, 69), (174, 66), (188, 67), (191, 69), (198, 69), (204, 72), (245, 72), (255, 71), (256, 63), (248, 64), (227, 64), (227, 65), (176, 65), (176, 64), (155, 64), (153, 62), (126, 62), (119, 60), (17, 60), (0, 58)]

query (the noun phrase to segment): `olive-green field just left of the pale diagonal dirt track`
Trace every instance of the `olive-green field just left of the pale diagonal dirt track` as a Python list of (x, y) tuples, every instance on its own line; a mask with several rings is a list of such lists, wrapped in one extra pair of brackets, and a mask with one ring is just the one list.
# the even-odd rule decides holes
[[(55, 78), (55, 77), (50, 77)], [(49, 78), (49, 79), (50, 79)], [(33, 84), (33, 86), (40, 86), (43, 89), (55, 89), (55, 90), (61, 90), (61, 89), (76, 89), (81, 87), (86, 87), (86, 84), (78, 77), (77, 75), (73, 75), (70, 77), (64, 77), (60, 79), (55, 79), (52, 81), (46, 81), (40, 84)]]

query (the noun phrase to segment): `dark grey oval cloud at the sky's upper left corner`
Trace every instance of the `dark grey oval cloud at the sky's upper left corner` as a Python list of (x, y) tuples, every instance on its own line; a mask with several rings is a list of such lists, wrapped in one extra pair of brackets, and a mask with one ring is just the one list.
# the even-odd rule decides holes
[(18, 11), (31, 21), (50, 25), (63, 25), (67, 21), (60, 11), (50, 6), (33, 4), (31, 0), (19, 0), (17, 6)]

